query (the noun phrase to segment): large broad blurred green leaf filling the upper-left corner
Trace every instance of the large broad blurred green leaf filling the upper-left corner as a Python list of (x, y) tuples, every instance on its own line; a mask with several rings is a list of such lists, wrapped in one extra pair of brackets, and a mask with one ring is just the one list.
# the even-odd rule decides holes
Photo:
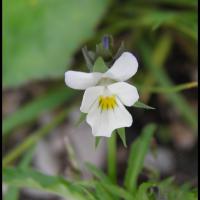
[(63, 77), (108, 5), (108, 0), (4, 0), (3, 87)]

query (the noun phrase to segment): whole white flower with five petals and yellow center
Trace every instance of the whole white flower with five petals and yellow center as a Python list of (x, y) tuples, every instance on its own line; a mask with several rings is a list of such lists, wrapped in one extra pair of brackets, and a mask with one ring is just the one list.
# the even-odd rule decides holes
[(133, 120), (125, 106), (132, 106), (139, 95), (136, 87), (124, 82), (138, 69), (138, 62), (124, 52), (105, 73), (65, 72), (65, 83), (85, 90), (80, 110), (88, 113), (87, 123), (94, 136), (110, 137), (115, 129), (130, 127)]

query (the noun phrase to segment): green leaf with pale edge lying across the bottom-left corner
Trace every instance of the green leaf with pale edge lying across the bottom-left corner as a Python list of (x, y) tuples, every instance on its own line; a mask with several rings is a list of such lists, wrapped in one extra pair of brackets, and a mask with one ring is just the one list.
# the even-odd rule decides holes
[(61, 177), (48, 176), (33, 169), (4, 168), (3, 182), (15, 187), (25, 187), (50, 192), (77, 200), (85, 200), (80, 187)]

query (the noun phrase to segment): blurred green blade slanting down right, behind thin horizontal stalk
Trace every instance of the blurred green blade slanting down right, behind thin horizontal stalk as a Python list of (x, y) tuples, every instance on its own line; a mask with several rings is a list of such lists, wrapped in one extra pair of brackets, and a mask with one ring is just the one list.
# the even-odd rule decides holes
[[(162, 38), (161, 38), (162, 39)], [(163, 68), (157, 66), (152, 62), (151, 52), (152, 49), (147, 43), (141, 42), (140, 49), (143, 55), (143, 62), (146, 67), (149, 68), (151, 74), (155, 77), (157, 82), (163, 87), (173, 87), (171, 80), (168, 78), (167, 73)], [(165, 95), (165, 97), (176, 107), (182, 114), (183, 119), (196, 131), (197, 128), (197, 117), (196, 113), (188, 105), (187, 101), (182, 95), (172, 93), (171, 95)]]

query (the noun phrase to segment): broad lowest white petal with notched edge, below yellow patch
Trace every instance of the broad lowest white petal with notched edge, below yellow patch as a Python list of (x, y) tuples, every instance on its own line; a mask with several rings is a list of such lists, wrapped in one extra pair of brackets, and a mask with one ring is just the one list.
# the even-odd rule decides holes
[(101, 111), (98, 108), (98, 102), (92, 106), (86, 121), (92, 127), (94, 136), (110, 137), (115, 129), (130, 127), (133, 120), (130, 113), (117, 100), (118, 107), (114, 110)]

